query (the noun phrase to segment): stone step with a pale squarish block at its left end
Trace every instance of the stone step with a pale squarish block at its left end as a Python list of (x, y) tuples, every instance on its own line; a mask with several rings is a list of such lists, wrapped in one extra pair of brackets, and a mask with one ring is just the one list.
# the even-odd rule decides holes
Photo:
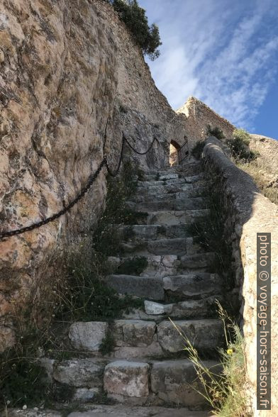
[[(206, 350), (206, 353), (221, 346), (221, 323), (216, 319), (174, 322), (197, 350)], [(89, 321), (72, 323), (68, 336), (70, 345), (82, 352), (100, 352), (101, 344), (110, 335), (113, 343), (109, 357), (163, 357), (184, 350), (186, 343), (177, 328), (169, 320), (157, 325), (155, 321), (121, 319), (113, 321), (110, 326), (106, 322)]]

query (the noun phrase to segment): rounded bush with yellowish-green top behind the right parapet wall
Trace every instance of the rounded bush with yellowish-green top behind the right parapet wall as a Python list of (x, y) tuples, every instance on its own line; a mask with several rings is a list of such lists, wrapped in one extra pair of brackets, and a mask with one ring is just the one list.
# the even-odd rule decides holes
[(233, 138), (227, 140), (232, 156), (235, 160), (244, 160), (249, 162), (255, 160), (258, 156), (257, 152), (252, 152), (249, 149), (250, 135), (244, 129), (235, 129), (233, 132)]

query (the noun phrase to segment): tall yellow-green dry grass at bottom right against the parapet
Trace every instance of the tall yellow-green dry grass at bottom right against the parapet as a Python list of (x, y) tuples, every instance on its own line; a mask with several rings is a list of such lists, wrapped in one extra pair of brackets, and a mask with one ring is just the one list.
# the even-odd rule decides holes
[(246, 363), (243, 335), (219, 303), (218, 313), (223, 322), (226, 349), (219, 350), (221, 363), (213, 368), (204, 365), (187, 335), (184, 335), (174, 322), (171, 322), (184, 339), (184, 350), (188, 352), (189, 360), (194, 364), (203, 389), (193, 387), (208, 401), (208, 404), (213, 408), (213, 415), (248, 417), (250, 414), (245, 395)]

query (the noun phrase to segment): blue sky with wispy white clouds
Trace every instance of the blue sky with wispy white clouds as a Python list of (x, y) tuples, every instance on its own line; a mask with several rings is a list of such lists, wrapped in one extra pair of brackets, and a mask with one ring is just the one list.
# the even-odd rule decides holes
[(163, 45), (152, 77), (173, 109), (189, 96), (278, 139), (277, 0), (139, 0)]

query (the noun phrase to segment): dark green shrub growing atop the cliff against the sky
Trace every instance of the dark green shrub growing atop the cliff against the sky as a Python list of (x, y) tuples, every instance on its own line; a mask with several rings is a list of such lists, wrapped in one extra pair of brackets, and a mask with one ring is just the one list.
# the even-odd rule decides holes
[(162, 45), (160, 42), (160, 32), (152, 23), (148, 25), (148, 18), (145, 16), (145, 10), (142, 9), (137, 0), (111, 0), (113, 8), (118, 13), (119, 18), (123, 21), (130, 33), (133, 35), (136, 43), (140, 46), (144, 54), (147, 54), (151, 60), (160, 56), (157, 49)]

